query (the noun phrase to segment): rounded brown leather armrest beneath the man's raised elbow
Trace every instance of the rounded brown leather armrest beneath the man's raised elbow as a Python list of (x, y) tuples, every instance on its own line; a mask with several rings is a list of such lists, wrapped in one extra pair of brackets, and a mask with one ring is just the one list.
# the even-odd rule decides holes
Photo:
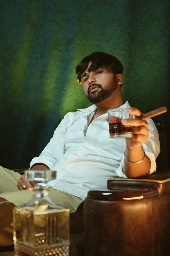
[(109, 179), (109, 189), (91, 190), (84, 202), (85, 256), (169, 255), (169, 183), (170, 172)]

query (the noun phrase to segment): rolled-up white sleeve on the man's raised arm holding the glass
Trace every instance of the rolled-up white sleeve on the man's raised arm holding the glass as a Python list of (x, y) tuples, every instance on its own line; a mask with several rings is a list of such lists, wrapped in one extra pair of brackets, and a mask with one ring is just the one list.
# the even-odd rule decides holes
[[(145, 144), (142, 145), (145, 154), (149, 157), (150, 159), (150, 171), (149, 175), (154, 173), (156, 171), (156, 158), (160, 153), (160, 142), (159, 142), (159, 134), (156, 129), (156, 126), (150, 118), (147, 119), (147, 123), (149, 124), (149, 138), (146, 141)], [(121, 178), (128, 178), (124, 173), (123, 173), (123, 165), (124, 165), (124, 157), (120, 162), (119, 168), (115, 171), (117, 175)]]

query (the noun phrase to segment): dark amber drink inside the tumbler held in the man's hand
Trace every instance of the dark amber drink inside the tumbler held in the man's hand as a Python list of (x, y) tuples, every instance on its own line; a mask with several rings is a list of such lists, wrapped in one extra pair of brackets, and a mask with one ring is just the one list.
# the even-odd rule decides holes
[(109, 123), (109, 133), (110, 137), (132, 137), (132, 126), (125, 126), (122, 125), (121, 122), (119, 123)]

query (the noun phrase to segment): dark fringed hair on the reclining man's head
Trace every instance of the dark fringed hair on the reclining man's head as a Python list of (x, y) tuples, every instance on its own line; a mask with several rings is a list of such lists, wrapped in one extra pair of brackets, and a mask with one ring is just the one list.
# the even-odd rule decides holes
[(118, 58), (108, 53), (94, 52), (82, 59), (82, 61), (76, 67), (77, 82), (79, 84), (82, 84), (81, 76), (87, 69), (90, 61), (92, 64), (90, 65), (88, 72), (97, 70), (102, 67), (106, 67), (107, 70), (109, 67), (111, 67), (114, 74), (123, 74), (123, 65)]

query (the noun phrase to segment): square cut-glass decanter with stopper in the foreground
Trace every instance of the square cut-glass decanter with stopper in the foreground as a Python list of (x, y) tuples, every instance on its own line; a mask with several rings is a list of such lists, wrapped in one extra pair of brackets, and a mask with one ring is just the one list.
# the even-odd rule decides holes
[(27, 170), (25, 179), (36, 186), (29, 188), (32, 199), (14, 208), (15, 256), (69, 256), (70, 210), (50, 199), (47, 185), (56, 171)]

